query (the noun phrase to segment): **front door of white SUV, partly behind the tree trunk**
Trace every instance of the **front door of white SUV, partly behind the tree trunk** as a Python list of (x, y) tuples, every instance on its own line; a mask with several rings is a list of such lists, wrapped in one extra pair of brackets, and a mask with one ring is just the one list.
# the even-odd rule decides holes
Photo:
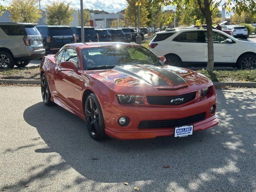
[[(208, 38), (207, 32), (204, 32), (205, 36), (205, 43), (204, 43), (204, 55), (205, 55), (205, 62), (208, 60)], [(214, 47), (214, 63), (232, 63), (234, 62), (234, 55), (235, 55), (235, 42), (230, 43), (226, 41), (229, 39), (228, 36), (213, 31), (213, 47)]]

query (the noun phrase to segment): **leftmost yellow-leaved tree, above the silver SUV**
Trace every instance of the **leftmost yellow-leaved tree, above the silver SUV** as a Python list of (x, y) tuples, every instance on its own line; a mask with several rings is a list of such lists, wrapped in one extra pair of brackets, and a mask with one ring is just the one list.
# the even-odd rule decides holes
[(37, 22), (42, 16), (37, 4), (37, 0), (12, 0), (8, 7), (10, 18), (14, 22)]

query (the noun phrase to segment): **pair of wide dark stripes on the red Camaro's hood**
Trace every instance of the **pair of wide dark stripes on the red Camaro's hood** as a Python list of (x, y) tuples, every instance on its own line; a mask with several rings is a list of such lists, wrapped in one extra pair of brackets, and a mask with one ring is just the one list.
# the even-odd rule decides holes
[(182, 77), (178, 76), (174, 72), (154, 65), (124, 65), (116, 66), (112, 70), (127, 74), (152, 86), (170, 86), (164, 79), (152, 71), (156, 71), (162, 76), (168, 78), (174, 84), (174, 86), (186, 83)]

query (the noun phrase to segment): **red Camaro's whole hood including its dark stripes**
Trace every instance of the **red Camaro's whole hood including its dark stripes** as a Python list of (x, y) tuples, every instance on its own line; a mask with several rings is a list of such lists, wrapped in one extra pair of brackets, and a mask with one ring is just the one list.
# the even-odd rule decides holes
[(120, 86), (178, 86), (192, 82), (212, 84), (202, 74), (174, 66), (115, 66), (112, 70), (90, 71), (89, 75), (100, 81), (108, 81)]

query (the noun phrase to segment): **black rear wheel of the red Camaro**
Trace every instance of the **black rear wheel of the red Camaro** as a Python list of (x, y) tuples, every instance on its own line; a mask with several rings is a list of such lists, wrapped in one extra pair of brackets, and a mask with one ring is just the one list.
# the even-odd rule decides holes
[(45, 74), (42, 74), (41, 76), (41, 93), (42, 93), (42, 99), (45, 105), (51, 106), (54, 105), (54, 102), (51, 101), (51, 93), (49, 84), (46, 78)]

